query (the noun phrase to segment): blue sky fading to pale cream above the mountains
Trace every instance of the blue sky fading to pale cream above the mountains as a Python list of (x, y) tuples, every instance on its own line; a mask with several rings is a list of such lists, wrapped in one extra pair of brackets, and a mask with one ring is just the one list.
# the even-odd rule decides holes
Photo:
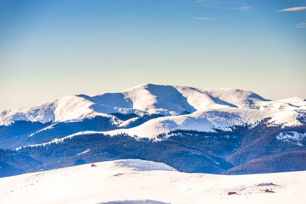
[(306, 98), (306, 0), (0, 0), (0, 110), (144, 83)]

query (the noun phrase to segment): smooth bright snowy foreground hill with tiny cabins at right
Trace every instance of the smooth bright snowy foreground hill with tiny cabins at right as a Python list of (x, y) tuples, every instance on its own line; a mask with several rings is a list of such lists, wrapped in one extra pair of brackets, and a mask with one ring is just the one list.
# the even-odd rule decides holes
[(306, 171), (214, 175), (117, 160), (2, 178), (0, 203), (298, 204), (306, 203), (305, 187)]

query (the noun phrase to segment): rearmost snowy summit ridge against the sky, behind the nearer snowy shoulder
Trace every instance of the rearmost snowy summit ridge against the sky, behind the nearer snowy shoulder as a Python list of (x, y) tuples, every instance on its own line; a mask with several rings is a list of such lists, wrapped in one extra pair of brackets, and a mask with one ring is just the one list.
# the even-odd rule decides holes
[[(306, 106), (306, 100), (300, 100), (298, 102), (299, 107)], [(278, 107), (276, 108), (281, 106), (292, 107), (286, 101), (293, 100), (292, 98), (277, 100)], [(80, 121), (84, 118), (96, 115), (107, 116), (115, 112), (138, 115), (155, 113), (173, 116), (180, 115), (182, 112), (193, 113), (198, 110), (223, 107), (265, 109), (264, 106), (271, 107), (273, 103), (273, 100), (265, 99), (256, 93), (241, 89), (198, 89), (177, 85), (142, 84), (117, 93), (91, 96), (85, 94), (71, 95), (33, 107), (3, 110), (0, 111), (0, 125), (15, 120)]]

